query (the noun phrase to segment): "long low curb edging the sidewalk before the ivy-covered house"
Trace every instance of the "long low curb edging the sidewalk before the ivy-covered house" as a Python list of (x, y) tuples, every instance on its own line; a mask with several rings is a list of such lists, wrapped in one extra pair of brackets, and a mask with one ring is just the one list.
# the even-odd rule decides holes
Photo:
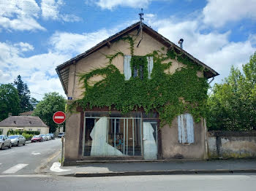
[(101, 177), (101, 176), (146, 176), (146, 175), (173, 175), (173, 174), (234, 174), (234, 173), (256, 173), (256, 169), (217, 169), (217, 170), (170, 170), (170, 171), (127, 171), (127, 172), (103, 172), (65, 174), (60, 176), (73, 177)]

